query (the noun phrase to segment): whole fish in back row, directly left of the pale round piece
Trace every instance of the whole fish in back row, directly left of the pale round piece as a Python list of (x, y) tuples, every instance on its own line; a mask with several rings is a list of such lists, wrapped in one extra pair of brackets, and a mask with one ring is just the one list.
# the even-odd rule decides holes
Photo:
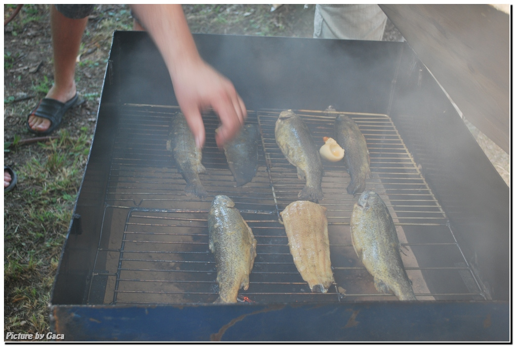
[(290, 109), (281, 112), (275, 123), (275, 139), (287, 161), (297, 168), (298, 178), (306, 179), (305, 187), (300, 191), (298, 197), (314, 202), (322, 200), (323, 166), (321, 157), (302, 118)]

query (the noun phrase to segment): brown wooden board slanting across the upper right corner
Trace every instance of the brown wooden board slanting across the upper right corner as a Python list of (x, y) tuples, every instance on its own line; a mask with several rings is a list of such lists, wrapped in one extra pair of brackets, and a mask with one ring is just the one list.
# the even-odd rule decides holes
[(510, 154), (510, 15), (490, 5), (380, 5), (462, 111)]

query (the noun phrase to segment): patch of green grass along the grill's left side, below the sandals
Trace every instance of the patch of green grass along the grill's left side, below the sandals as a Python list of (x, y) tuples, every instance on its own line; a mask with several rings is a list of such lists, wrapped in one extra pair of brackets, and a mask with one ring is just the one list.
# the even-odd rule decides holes
[[(5, 330), (49, 331), (50, 290), (90, 139), (85, 130), (78, 136), (60, 130), (19, 168), (19, 186), (4, 208)], [(23, 149), (11, 144), (11, 150)]]

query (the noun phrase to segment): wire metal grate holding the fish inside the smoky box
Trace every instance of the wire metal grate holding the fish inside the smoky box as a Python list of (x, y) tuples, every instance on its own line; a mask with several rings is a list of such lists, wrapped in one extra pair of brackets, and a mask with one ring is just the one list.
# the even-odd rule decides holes
[[(338, 302), (396, 300), (379, 294), (351, 244), (350, 216), (356, 201), (346, 194), (350, 182), (342, 161), (323, 162), (322, 188), (327, 207), (331, 260), (336, 283), (326, 294), (310, 293), (289, 253), (283, 225), (285, 206), (297, 200), (304, 182), (297, 177), (274, 139), (276, 110), (249, 111), (259, 124), (262, 146), (252, 180), (234, 187), (222, 151), (215, 145), (217, 119), (204, 117), (207, 139), (201, 175), (209, 197), (183, 193), (185, 181), (166, 149), (170, 116), (176, 107), (125, 105), (114, 139), (106, 192), (102, 238), (91, 280), (89, 303), (210, 303), (217, 297), (214, 256), (208, 248), (207, 213), (212, 198), (232, 198), (258, 242), (248, 291), (241, 301)], [(296, 111), (317, 143), (333, 137), (333, 114)], [(368, 143), (374, 189), (388, 205), (405, 246), (402, 254), (414, 293), (422, 299), (484, 299), (480, 285), (456, 243), (444, 211), (384, 114), (346, 113)], [(415, 239), (415, 241), (408, 241)], [(427, 285), (430, 282), (437, 284)]]

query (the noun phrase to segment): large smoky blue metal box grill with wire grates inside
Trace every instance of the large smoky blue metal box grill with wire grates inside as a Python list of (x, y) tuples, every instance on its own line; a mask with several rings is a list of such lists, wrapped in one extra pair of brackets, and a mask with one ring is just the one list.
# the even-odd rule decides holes
[[(53, 331), (66, 340), (508, 340), (508, 187), (406, 43), (194, 37), (259, 126), (256, 175), (234, 186), (208, 111), (200, 178), (209, 196), (184, 194), (166, 147), (178, 111), (166, 68), (148, 35), (115, 32), (52, 291)], [(333, 135), (328, 105), (366, 138), (366, 186), (390, 209), (416, 302), (378, 293), (358, 260), (350, 237), (356, 198), (346, 193), (342, 162), (323, 162), (320, 201), (336, 282), (311, 293), (296, 270), (279, 213), (304, 182), (278, 148), (274, 124), (293, 109), (321, 146)], [(212, 303), (207, 214), (218, 194), (234, 200), (258, 242), (237, 304)]]

